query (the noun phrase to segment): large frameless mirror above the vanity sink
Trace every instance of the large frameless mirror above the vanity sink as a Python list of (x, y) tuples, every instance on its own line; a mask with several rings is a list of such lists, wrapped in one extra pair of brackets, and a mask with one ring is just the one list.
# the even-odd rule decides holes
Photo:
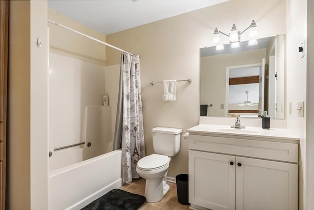
[(285, 36), (257, 41), (200, 49), (201, 116), (285, 119)]

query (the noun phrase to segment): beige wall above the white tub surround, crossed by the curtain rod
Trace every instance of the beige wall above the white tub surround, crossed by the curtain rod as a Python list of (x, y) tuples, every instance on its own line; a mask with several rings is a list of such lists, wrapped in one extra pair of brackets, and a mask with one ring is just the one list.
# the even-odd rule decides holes
[[(90, 29), (52, 9), (48, 9), (48, 20), (57, 22), (58, 24), (77, 30), (101, 41), (106, 41), (105, 34)], [(72, 31), (56, 27), (51, 23), (48, 24), (48, 27), (50, 28), (50, 52), (105, 65), (105, 45)]]

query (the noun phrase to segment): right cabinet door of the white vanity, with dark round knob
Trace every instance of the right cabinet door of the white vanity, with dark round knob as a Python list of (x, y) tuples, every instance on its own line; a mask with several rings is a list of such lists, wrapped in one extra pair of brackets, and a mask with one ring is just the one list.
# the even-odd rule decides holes
[(236, 210), (297, 209), (297, 164), (236, 157)]

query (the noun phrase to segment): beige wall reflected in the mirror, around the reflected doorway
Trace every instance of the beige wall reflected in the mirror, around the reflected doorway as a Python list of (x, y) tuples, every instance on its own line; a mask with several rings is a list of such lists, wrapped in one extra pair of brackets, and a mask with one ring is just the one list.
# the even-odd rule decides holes
[[(225, 109), (220, 109), (220, 104), (226, 101), (226, 67), (256, 63), (262, 65), (265, 57), (266, 49), (260, 49), (200, 58), (200, 102), (213, 105), (208, 108), (207, 116), (225, 117)], [(225, 108), (228, 108), (226, 104)]]

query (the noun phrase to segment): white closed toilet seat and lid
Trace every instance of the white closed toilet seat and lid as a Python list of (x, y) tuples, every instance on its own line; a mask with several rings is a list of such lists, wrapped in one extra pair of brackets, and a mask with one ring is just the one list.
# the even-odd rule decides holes
[(143, 171), (153, 171), (169, 166), (170, 158), (166, 155), (151, 154), (137, 162), (137, 168)]

